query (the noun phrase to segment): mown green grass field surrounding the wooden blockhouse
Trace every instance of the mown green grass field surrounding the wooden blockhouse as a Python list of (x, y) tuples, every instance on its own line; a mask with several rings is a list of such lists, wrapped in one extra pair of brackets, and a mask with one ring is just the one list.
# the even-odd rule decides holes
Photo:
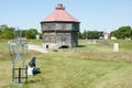
[[(42, 41), (26, 41), (42, 44)], [(120, 52), (112, 45), (119, 42)], [(0, 40), (0, 88), (21, 88), (13, 86), (12, 65), (8, 55), (8, 41)], [(41, 74), (29, 76), (22, 88), (132, 88), (132, 41), (90, 41), (80, 40), (79, 47), (51, 52), (47, 54), (29, 51), (25, 64), (32, 56)]]

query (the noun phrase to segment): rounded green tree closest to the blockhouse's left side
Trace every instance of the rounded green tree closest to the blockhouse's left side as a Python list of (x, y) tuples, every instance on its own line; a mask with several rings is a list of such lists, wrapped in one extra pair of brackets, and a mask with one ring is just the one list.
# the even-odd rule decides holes
[(29, 29), (25, 32), (25, 36), (26, 38), (35, 38), (35, 35), (37, 34), (37, 30), (36, 29)]

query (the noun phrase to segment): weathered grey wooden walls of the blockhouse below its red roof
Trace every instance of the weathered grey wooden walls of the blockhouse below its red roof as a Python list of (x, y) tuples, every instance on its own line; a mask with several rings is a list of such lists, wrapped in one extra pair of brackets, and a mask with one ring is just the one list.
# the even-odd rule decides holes
[(79, 23), (42, 23), (45, 47), (75, 47), (78, 45)]

